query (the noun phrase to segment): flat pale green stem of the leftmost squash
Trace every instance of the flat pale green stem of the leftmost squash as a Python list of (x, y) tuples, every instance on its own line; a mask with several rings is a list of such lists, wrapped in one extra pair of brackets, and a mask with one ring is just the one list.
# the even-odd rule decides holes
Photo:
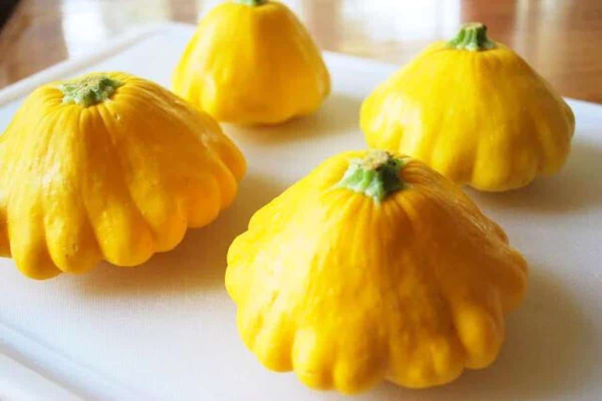
[(116, 79), (96, 74), (64, 82), (58, 88), (63, 93), (63, 103), (87, 107), (104, 102), (122, 85), (123, 83)]

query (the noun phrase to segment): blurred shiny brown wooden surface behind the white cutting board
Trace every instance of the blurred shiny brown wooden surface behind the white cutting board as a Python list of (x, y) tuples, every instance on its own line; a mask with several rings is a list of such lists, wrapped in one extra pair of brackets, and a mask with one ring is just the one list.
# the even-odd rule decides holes
[[(194, 23), (221, 0), (0, 0), (0, 88), (149, 23)], [(402, 64), (485, 22), (563, 95), (602, 103), (602, 0), (284, 0), (318, 46)]]

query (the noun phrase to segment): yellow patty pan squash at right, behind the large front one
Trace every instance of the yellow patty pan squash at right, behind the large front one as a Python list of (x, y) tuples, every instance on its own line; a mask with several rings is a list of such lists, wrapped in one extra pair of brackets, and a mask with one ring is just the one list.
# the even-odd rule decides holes
[(482, 191), (558, 171), (575, 128), (571, 108), (482, 23), (427, 47), (365, 100), (360, 120), (370, 147)]

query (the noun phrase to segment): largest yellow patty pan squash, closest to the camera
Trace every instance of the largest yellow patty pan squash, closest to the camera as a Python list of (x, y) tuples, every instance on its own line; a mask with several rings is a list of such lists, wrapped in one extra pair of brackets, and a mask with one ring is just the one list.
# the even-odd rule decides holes
[(328, 159), (256, 212), (226, 271), (259, 361), (343, 393), (488, 366), (526, 280), (523, 257), (461, 189), (378, 150)]

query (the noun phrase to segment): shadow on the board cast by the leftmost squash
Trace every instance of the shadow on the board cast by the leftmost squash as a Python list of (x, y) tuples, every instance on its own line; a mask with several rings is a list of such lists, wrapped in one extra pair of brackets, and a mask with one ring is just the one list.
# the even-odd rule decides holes
[(257, 209), (284, 189), (284, 184), (278, 185), (267, 177), (244, 177), (232, 206), (208, 226), (188, 230), (172, 251), (155, 254), (133, 268), (101, 263), (81, 276), (78, 287), (91, 295), (127, 293), (150, 297), (223, 289), (226, 254), (232, 240), (246, 230), (250, 216)]

